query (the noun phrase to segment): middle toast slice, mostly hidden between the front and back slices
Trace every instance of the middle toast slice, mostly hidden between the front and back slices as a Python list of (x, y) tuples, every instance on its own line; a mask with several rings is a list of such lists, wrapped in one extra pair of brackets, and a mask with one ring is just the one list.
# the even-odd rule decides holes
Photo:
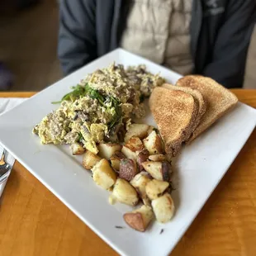
[(162, 87), (167, 88), (169, 90), (181, 90), (183, 92), (187, 92), (187, 93), (191, 94), (192, 97), (194, 97), (195, 100), (198, 102), (197, 118), (196, 118), (194, 126), (192, 128), (192, 131), (194, 131), (197, 128), (198, 124), (200, 123), (201, 117), (206, 112), (206, 102), (205, 102), (204, 98), (202, 97), (201, 92), (199, 92), (198, 90), (192, 89), (192, 88), (178, 87), (176, 85), (169, 84), (169, 83), (164, 83), (162, 85)]

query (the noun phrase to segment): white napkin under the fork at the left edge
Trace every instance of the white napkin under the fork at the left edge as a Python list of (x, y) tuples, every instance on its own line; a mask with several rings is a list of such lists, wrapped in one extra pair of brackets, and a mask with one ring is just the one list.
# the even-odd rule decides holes
[[(20, 104), (21, 102), (24, 102), (26, 101), (26, 98), (6, 98), (6, 97), (3, 97), (3, 98), (0, 98), (0, 115), (2, 115), (3, 112), (5, 111), (8, 111), (10, 109), (12, 109), (12, 107), (15, 107), (17, 106), (18, 104)], [(1, 124), (0, 124), (1, 126)], [(3, 152), (3, 147), (2, 145), (0, 144), (0, 158), (2, 156), (2, 152)], [(11, 166), (13, 166), (14, 162), (15, 162), (15, 159), (12, 157), (12, 154), (9, 154), (7, 153), (7, 156), (5, 158), (7, 164), (10, 164)], [(2, 192), (3, 192), (3, 189), (5, 187), (7, 183), (7, 180), (0, 184), (0, 197), (2, 196)]]

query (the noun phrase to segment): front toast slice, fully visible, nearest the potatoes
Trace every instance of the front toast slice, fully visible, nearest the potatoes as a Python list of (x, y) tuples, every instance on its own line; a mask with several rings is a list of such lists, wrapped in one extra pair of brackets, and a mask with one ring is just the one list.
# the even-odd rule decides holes
[(165, 152), (175, 156), (192, 134), (198, 104), (194, 97), (180, 90), (154, 88), (149, 108), (164, 140)]

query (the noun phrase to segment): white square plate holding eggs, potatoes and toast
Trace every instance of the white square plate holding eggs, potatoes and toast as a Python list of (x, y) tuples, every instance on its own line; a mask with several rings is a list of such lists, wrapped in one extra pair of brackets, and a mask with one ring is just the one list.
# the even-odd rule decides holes
[[(81, 165), (81, 158), (73, 157), (64, 146), (40, 145), (39, 138), (31, 133), (33, 126), (56, 107), (51, 102), (58, 101), (86, 74), (113, 61), (125, 66), (146, 64), (149, 71), (160, 72), (171, 83), (181, 77), (125, 50), (114, 50), (0, 116), (0, 142), (119, 254), (167, 255), (254, 130), (256, 111), (239, 103), (192, 145), (184, 148), (174, 164), (177, 190), (173, 192), (173, 201), (177, 211), (173, 220), (166, 225), (154, 223), (145, 233), (131, 230), (122, 218), (130, 207), (118, 203), (111, 206), (107, 200), (108, 192), (92, 181), (91, 173)], [(154, 124), (150, 115), (145, 121)], [(116, 225), (125, 228), (116, 229)], [(162, 229), (164, 232), (160, 235)]]

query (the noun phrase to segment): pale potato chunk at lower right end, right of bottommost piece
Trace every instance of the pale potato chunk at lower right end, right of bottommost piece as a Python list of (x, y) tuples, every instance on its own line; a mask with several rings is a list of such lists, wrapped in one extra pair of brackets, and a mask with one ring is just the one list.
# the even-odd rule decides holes
[(165, 193), (162, 197), (158, 197), (152, 201), (152, 207), (156, 220), (166, 223), (172, 219), (175, 211), (173, 198), (170, 194)]

